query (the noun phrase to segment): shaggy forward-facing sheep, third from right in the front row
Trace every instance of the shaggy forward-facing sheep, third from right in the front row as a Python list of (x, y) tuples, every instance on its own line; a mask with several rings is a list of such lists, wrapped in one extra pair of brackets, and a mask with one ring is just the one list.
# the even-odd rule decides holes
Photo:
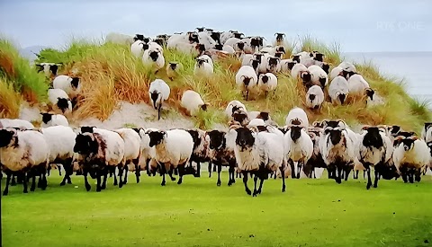
[(329, 171), (329, 178), (341, 183), (342, 170), (347, 171), (346, 180), (355, 161), (355, 144), (347, 133), (345, 123), (338, 120), (323, 121), (324, 133), (320, 137), (320, 153)]

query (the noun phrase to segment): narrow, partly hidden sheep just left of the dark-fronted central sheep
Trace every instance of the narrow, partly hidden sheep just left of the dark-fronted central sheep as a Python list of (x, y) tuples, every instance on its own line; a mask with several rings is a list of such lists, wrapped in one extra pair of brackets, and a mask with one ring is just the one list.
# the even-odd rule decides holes
[(194, 177), (201, 177), (201, 163), (208, 162), (209, 141), (206, 138), (206, 132), (202, 129), (186, 129), (193, 139), (193, 152), (189, 160), (189, 167), (193, 167), (193, 162), (196, 163), (196, 171), (193, 172)]

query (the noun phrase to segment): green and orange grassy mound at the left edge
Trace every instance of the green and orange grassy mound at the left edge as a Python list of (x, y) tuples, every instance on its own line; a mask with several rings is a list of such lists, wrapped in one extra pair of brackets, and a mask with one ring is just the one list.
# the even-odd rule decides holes
[(0, 118), (16, 118), (23, 100), (47, 100), (48, 80), (8, 40), (0, 39)]

